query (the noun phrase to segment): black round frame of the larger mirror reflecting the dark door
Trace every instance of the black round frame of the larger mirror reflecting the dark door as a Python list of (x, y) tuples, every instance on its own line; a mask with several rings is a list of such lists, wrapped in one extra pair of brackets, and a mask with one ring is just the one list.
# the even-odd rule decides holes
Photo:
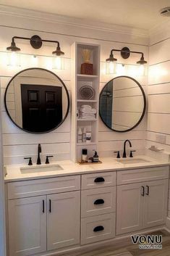
[[(57, 79), (59, 79), (59, 81), (60, 81), (60, 82), (62, 83), (62, 85), (64, 86), (64, 89), (65, 89), (66, 94), (67, 94), (67, 100), (68, 100), (67, 112), (66, 112), (66, 115), (65, 115), (64, 119), (62, 120), (62, 122), (59, 123), (59, 125), (57, 125), (56, 127), (54, 127), (54, 128), (51, 129), (51, 130), (43, 131), (43, 132), (40, 132), (40, 133), (34, 133), (34, 132), (32, 132), (32, 131), (27, 131), (27, 130), (21, 128), (19, 125), (17, 125), (17, 123), (14, 123), (14, 120), (12, 120), (12, 117), (9, 115), (9, 112), (8, 112), (8, 110), (7, 110), (7, 103), (6, 103), (7, 90), (8, 90), (8, 88), (9, 88), (9, 85), (10, 85), (10, 83), (12, 82), (12, 80), (14, 80), (14, 78), (16, 78), (17, 75), (19, 75), (20, 73), (22, 73), (22, 72), (24, 72), (24, 71), (27, 71), (27, 70), (43, 70), (43, 71), (46, 71), (46, 72), (48, 72), (48, 73), (51, 73), (51, 74), (54, 75)], [(69, 114), (69, 103), (70, 103), (70, 101), (69, 101), (69, 92), (68, 92), (67, 87), (65, 86), (64, 82), (61, 80), (61, 78), (59, 78), (59, 76), (56, 75), (55, 73), (53, 73), (52, 71), (46, 70), (45, 68), (41, 68), (41, 67), (30, 67), (30, 68), (27, 68), (27, 69), (25, 69), (25, 70), (21, 70), (19, 73), (17, 73), (16, 75), (14, 75), (14, 76), (12, 77), (12, 79), (9, 80), (9, 83), (7, 84), (7, 88), (6, 88), (5, 94), (4, 94), (4, 105), (5, 105), (5, 110), (7, 111), (7, 115), (9, 116), (9, 119), (12, 120), (12, 123), (14, 123), (14, 125), (16, 125), (18, 128), (20, 128), (22, 131), (25, 131), (26, 133), (32, 133), (32, 134), (50, 133), (51, 131), (56, 130), (56, 128), (59, 128), (59, 126), (60, 126), (62, 123), (64, 123), (64, 121), (65, 121), (66, 118), (67, 118), (67, 115)]]

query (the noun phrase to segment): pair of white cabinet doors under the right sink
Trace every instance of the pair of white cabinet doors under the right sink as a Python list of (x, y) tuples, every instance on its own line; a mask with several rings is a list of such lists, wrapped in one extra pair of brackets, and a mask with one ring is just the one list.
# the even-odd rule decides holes
[(167, 196), (167, 179), (118, 186), (116, 234), (163, 224)]

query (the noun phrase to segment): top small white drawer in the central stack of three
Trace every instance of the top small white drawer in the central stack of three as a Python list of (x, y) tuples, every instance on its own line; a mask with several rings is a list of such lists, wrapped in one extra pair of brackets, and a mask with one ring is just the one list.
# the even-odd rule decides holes
[(116, 172), (82, 175), (82, 189), (95, 189), (116, 185)]

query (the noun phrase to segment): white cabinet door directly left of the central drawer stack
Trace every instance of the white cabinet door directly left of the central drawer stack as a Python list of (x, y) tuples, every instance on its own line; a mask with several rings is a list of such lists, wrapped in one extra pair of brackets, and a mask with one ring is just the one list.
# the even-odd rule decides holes
[(47, 249), (80, 243), (80, 191), (47, 197)]

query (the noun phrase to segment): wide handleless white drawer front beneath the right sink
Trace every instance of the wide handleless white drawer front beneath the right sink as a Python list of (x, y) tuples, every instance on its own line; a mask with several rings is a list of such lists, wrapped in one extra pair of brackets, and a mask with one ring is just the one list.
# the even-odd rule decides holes
[(156, 181), (164, 178), (169, 178), (169, 166), (135, 170), (120, 170), (117, 172), (118, 185), (142, 181)]

